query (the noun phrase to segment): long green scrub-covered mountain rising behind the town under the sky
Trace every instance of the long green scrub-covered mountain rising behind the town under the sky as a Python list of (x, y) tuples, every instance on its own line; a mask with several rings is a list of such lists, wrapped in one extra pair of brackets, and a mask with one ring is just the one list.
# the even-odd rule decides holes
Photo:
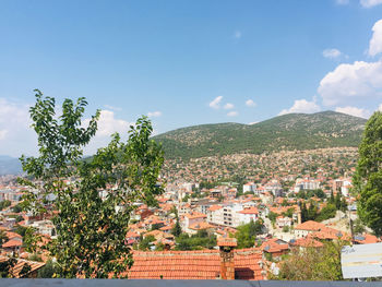
[(366, 119), (323, 111), (288, 113), (255, 124), (217, 123), (182, 128), (154, 136), (166, 158), (235, 153), (358, 146)]

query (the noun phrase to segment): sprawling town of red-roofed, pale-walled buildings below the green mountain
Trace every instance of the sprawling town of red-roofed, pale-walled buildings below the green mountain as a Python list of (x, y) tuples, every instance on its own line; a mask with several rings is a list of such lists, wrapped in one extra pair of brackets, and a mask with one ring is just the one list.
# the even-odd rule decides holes
[[(131, 214), (126, 244), (133, 250), (134, 265), (129, 277), (219, 277), (216, 252), (229, 240), (235, 272), (222, 277), (244, 279), (279, 276), (280, 263), (296, 249), (323, 249), (342, 240), (379, 242), (357, 219), (351, 193), (356, 162), (357, 148), (351, 147), (166, 162), (160, 176), (166, 188), (157, 207), (136, 203)], [(29, 263), (28, 276), (41, 276), (51, 264), (45, 246), (56, 230), (52, 214), (36, 217), (22, 211), (24, 189), (15, 176), (1, 177), (1, 256), (16, 255), (21, 266)], [(211, 266), (204, 273), (190, 271), (205, 253)], [(172, 265), (184, 271), (175, 273)], [(25, 276), (22, 267), (19, 273)]]

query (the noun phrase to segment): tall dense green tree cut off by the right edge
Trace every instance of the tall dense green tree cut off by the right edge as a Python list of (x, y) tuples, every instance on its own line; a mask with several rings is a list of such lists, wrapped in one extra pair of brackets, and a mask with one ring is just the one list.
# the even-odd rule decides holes
[(382, 236), (382, 112), (375, 111), (366, 123), (358, 148), (359, 159), (353, 177), (359, 194), (359, 218), (377, 236)]

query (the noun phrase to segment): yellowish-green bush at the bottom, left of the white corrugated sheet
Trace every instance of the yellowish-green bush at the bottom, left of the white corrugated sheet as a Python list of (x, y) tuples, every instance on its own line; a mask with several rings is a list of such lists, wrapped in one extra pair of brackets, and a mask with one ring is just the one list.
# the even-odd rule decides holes
[(323, 248), (294, 249), (282, 262), (279, 275), (271, 279), (342, 280), (341, 249), (345, 244), (345, 241), (325, 242)]

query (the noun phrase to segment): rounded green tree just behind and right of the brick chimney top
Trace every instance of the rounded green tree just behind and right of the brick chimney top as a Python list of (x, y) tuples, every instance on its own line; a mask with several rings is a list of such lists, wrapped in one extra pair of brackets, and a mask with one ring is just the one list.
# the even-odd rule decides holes
[(249, 224), (238, 226), (235, 234), (235, 238), (238, 242), (238, 248), (251, 248), (254, 246), (258, 235), (262, 234), (263, 222), (256, 220), (255, 223), (251, 220)]

